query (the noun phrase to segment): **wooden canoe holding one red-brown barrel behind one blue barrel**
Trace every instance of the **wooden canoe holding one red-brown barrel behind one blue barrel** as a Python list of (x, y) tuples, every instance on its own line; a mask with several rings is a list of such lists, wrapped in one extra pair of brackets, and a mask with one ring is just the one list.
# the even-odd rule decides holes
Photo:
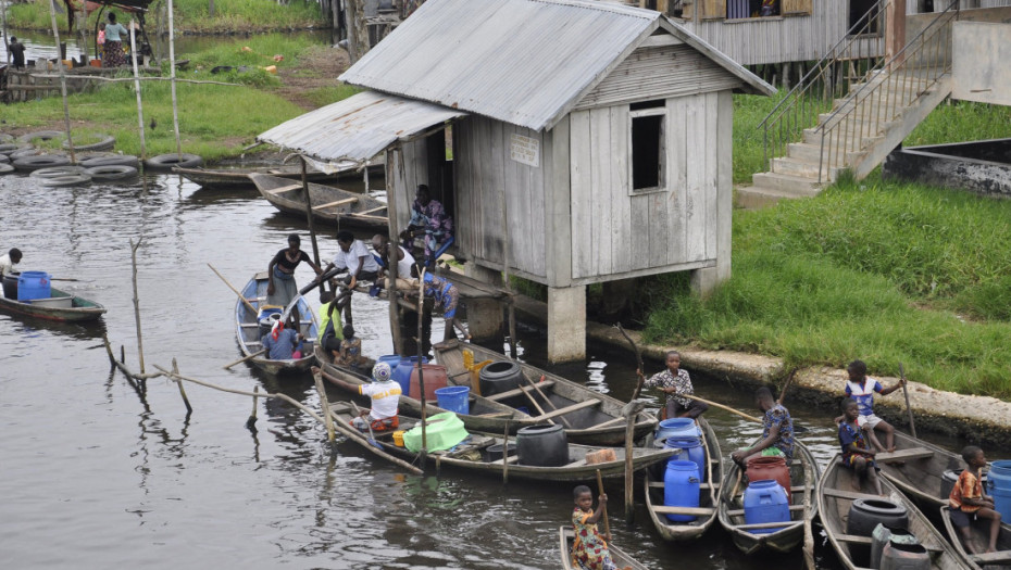
[[(799, 441), (795, 440), (794, 446), (794, 463), (790, 465), (790, 522), (776, 532), (767, 534), (750, 532), (754, 530), (754, 527), (745, 522), (742, 495), (747, 485), (746, 481), (741, 480), (745, 474), (744, 470), (734, 461), (726, 464), (724, 469), (726, 474), (720, 489), (720, 524), (726, 529), (734, 544), (745, 554), (751, 555), (766, 548), (778, 553), (792, 550), (803, 542), (804, 517), (813, 519), (817, 516), (817, 504), (814, 501), (815, 485), (819, 480), (817, 461)], [(807, 510), (803, 508), (806, 493), (809, 497)]]

